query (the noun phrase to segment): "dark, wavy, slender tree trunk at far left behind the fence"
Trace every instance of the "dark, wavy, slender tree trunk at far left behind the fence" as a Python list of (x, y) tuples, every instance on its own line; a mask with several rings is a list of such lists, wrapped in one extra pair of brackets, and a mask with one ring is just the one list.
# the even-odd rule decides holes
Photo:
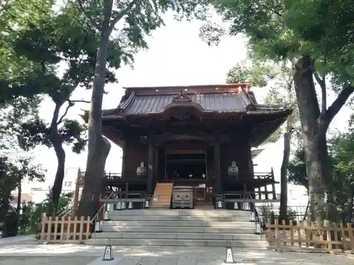
[(55, 155), (57, 155), (57, 172), (55, 173), (55, 181), (50, 192), (50, 207), (48, 211), (49, 216), (55, 216), (59, 204), (60, 194), (62, 193), (62, 186), (64, 181), (65, 170), (65, 151), (62, 146), (62, 139), (58, 132), (57, 121), (59, 119), (59, 110), (62, 103), (55, 105), (55, 110), (50, 124), (50, 141), (54, 147)]

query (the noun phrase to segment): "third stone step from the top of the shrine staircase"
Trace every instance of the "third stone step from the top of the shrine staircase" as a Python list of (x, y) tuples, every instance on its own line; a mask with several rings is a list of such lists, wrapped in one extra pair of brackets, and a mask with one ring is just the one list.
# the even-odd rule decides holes
[(190, 221), (190, 220), (109, 220), (104, 225), (113, 226), (163, 226), (163, 227), (210, 227), (210, 228), (254, 228), (251, 222), (214, 222), (214, 221)]

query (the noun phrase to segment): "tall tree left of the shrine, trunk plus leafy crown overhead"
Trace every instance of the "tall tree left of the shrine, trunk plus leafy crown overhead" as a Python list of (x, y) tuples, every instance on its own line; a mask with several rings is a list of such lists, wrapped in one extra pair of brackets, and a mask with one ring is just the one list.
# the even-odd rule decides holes
[[(121, 49), (119, 61), (132, 61), (138, 49), (147, 48), (145, 37), (152, 30), (164, 25), (162, 15), (173, 10), (177, 18), (205, 19), (209, 1), (207, 0), (124, 0), (113, 5), (113, 0), (76, 0), (82, 13), (86, 15), (86, 25), (98, 32), (95, 78), (89, 110), (89, 154), (86, 163), (84, 189), (79, 204), (80, 216), (94, 216), (98, 211), (101, 179), (105, 160), (110, 151), (110, 143), (102, 136), (102, 100), (104, 93), (105, 64), (111, 47), (110, 36), (115, 31), (115, 42)], [(130, 54), (124, 60), (123, 55)]]

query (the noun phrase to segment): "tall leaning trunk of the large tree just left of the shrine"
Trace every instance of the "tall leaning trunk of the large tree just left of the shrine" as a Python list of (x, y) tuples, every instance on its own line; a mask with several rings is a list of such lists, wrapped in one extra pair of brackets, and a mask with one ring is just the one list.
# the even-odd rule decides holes
[(101, 37), (97, 49), (95, 78), (93, 80), (91, 107), (89, 111), (89, 143), (84, 188), (82, 189), (78, 216), (96, 214), (99, 207), (101, 181), (105, 170), (105, 160), (110, 151), (110, 143), (102, 136), (102, 101), (105, 85), (105, 64), (110, 37), (110, 16), (112, 3), (103, 1)]

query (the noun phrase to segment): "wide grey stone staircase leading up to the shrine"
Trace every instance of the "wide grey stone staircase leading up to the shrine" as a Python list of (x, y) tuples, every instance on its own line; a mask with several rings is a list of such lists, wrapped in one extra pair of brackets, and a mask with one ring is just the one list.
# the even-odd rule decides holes
[[(232, 247), (266, 246), (249, 211), (143, 209), (110, 212), (89, 245)], [(92, 235), (94, 237), (95, 235)]]

